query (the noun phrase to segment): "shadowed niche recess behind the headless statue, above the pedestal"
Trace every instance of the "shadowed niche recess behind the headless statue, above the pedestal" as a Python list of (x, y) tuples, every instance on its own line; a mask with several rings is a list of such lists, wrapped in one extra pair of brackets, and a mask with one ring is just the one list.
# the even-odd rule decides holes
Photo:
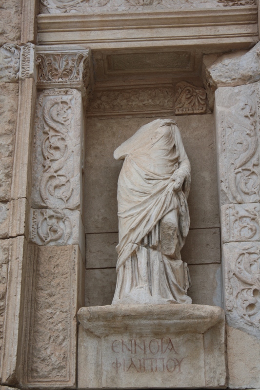
[(192, 167), (191, 226), (182, 250), (192, 279), (189, 294), (195, 304), (221, 306), (215, 127), (198, 77), (201, 57), (182, 53), (185, 69), (180, 70), (179, 52), (179, 57), (161, 54), (164, 68), (155, 69), (158, 53), (138, 53), (133, 55), (132, 70), (129, 55), (93, 54), (97, 82), (85, 136), (86, 306), (111, 304), (116, 287), (117, 181), (122, 162), (114, 159), (114, 150), (140, 126), (167, 117), (176, 120)]

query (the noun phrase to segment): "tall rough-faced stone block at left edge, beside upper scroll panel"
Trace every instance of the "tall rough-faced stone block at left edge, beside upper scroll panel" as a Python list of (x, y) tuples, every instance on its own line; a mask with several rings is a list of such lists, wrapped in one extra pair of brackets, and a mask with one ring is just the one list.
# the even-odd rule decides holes
[(0, 201), (8, 201), (12, 182), (19, 85), (0, 83), (0, 89)]

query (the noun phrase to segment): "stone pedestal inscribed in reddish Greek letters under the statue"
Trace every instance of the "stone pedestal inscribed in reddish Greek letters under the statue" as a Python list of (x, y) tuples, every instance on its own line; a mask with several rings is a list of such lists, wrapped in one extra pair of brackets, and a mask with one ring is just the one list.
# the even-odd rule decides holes
[(78, 318), (79, 389), (226, 387), (220, 307), (94, 306)]

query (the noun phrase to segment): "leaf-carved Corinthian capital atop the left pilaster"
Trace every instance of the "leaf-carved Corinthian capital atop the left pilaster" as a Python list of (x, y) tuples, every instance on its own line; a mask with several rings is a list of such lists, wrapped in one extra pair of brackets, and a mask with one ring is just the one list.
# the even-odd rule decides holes
[(92, 86), (90, 49), (82, 46), (38, 46), (37, 84), (40, 88), (78, 88), (89, 94)]

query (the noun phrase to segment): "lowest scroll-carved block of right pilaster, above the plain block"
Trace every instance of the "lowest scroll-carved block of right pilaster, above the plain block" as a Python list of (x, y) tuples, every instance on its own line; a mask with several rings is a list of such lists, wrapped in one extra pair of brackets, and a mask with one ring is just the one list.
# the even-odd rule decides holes
[(223, 245), (228, 325), (260, 338), (260, 242)]

